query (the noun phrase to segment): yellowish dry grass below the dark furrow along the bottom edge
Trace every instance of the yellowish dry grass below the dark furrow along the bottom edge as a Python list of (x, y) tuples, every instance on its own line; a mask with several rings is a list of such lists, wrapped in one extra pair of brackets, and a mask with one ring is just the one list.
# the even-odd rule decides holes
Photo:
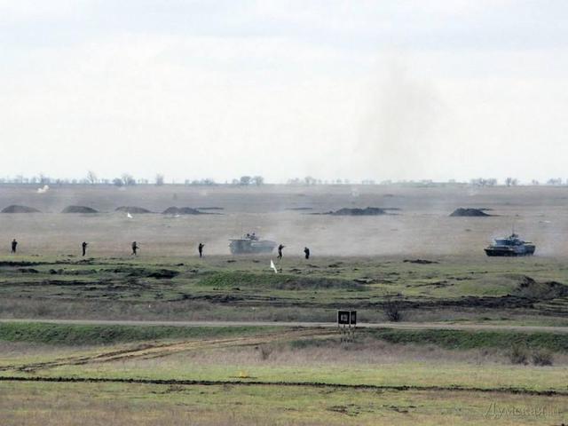
[[(6, 390), (9, 392), (6, 393)], [(565, 398), (278, 386), (0, 383), (3, 426), (560, 424)], [(487, 415), (491, 406), (548, 415)]]

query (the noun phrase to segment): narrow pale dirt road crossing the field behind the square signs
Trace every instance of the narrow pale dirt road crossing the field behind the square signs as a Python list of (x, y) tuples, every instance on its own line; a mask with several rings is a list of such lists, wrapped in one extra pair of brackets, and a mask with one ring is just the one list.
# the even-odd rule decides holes
[[(163, 326), (163, 327), (337, 327), (335, 322), (270, 322), (270, 321), (146, 321), (127, 319), (0, 319), (2, 322), (41, 322), (48, 324), (97, 326)], [(404, 330), (471, 330), (520, 331), (568, 334), (568, 327), (517, 326), (493, 324), (447, 324), (438, 322), (359, 323), (358, 328), (394, 328)]]

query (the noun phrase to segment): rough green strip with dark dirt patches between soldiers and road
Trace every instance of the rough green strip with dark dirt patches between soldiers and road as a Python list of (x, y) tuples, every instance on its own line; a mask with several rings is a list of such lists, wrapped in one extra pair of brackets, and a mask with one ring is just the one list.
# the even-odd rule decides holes
[[(434, 259), (434, 258), (432, 258)], [(568, 268), (557, 259), (437, 256), (0, 258), (0, 318), (383, 321), (567, 325)]]

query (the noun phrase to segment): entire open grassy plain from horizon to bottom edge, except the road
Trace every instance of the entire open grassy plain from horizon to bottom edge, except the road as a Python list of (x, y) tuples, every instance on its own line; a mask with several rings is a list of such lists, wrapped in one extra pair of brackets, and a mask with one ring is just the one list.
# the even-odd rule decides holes
[[(0, 186), (0, 319), (270, 321), (270, 327), (0, 323), (0, 423), (546, 424), (568, 421), (568, 188)], [(59, 213), (70, 204), (94, 215)], [(221, 213), (129, 219), (119, 206)], [(387, 207), (381, 217), (310, 215)], [(448, 217), (458, 207), (493, 217)], [(294, 210), (303, 208), (303, 210)], [(537, 256), (487, 258), (511, 225)], [(284, 258), (231, 256), (256, 232)], [(88, 255), (79, 256), (89, 241)], [(130, 256), (130, 242), (141, 243)], [(196, 256), (205, 242), (206, 256)], [(312, 258), (301, 256), (304, 246)], [(280, 273), (270, 269), (271, 258)], [(418, 261), (418, 262), (417, 262)], [(431, 329), (359, 330), (278, 321)]]

